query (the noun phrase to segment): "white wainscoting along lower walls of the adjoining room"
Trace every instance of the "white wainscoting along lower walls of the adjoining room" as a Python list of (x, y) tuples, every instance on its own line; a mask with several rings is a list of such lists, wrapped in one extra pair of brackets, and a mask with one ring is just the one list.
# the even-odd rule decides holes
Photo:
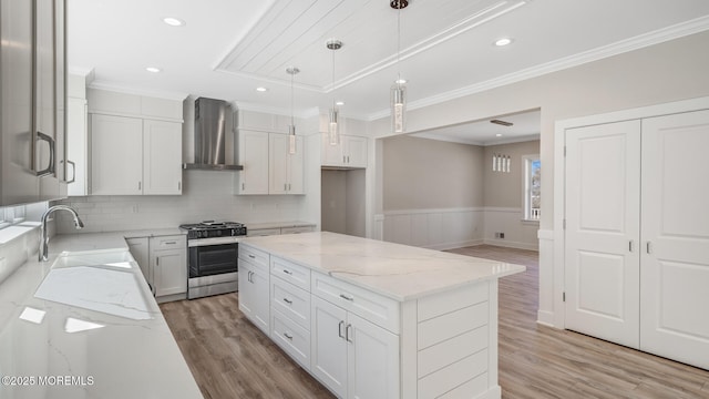
[[(470, 207), (390, 211), (376, 216), (387, 242), (432, 249), (491, 244), (512, 248), (538, 248), (534, 223), (522, 222), (520, 208)], [(505, 238), (495, 238), (495, 232)]]

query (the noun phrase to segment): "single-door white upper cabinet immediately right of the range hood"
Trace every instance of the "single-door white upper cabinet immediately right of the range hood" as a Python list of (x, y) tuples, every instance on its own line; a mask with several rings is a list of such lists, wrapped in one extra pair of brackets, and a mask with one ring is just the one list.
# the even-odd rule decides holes
[(268, 194), (268, 133), (239, 130), (235, 194)]

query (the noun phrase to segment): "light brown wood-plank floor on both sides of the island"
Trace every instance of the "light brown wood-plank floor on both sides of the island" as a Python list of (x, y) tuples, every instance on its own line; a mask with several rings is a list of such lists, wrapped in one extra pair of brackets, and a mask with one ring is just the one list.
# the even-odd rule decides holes
[[(527, 267), (500, 280), (503, 398), (709, 398), (707, 370), (537, 325), (536, 252), (451, 252)], [(161, 308), (205, 398), (332, 398), (244, 318), (236, 294)]]

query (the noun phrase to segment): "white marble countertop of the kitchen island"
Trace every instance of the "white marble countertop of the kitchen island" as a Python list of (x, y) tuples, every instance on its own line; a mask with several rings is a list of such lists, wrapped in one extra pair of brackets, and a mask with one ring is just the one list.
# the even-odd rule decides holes
[(248, 237), (242, 244), (399, 301), (526, 269), (522, 265), (327, 232)]

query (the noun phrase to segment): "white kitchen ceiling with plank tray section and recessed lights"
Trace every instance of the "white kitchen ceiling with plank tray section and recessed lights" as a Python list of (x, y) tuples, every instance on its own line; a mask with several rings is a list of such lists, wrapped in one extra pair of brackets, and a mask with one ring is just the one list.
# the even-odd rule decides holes
[[(285, 70), (295, 65), (297, 114), (341, 100), (343, 115), (364, 120), (389, 115), (398, 71), (409, 81), (411, 110), (709, 29), (707, 0), (410, 0), (400, 13), (398, 65), (388, 0), (68, 3), (70, 71), (95, 88), (289, 113)], [(164, 17), (186, 25), (169, 27)], [(493, 45), (503, 37), (513, 43)], [(343, 42), (335, 82), (326, 48), (332, 38)]]

